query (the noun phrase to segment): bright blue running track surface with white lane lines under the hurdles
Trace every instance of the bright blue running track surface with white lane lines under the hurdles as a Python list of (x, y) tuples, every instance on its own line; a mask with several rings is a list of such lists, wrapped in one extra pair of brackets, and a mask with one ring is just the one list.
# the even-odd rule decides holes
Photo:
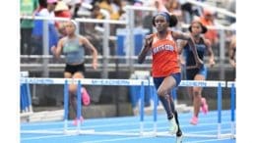
[[(189, 124), (192, 113), (179, 114), (179, 121), (184, 137), (183, 143), (235, 143), (229, 136), (222, 138), (209, 137), (218, 133), (218, 113), (210, 112), (208, 115), (200, 114), (198, 125)], [(222, 112), (222, 135), (230, 134), (230, 112)], [(168, 123), (164, 115), (158, 116), (158, 135), (144, 134), (140, 136), (139, 117), (85, 119), (81, 129), (85, 134), (63, 133), (63, 121), (31, 122), (21, 124), (21, 143), (171, 143), (175, 142), (174, 136), (167, 133)], [(68, 122), (69, 130), (76, 130), (72, 121)], [(146, 116), (144, 131), (153, 132), (154, 123), (152, 116)], [(88, 131), (88, 132), (87, 132)], [(103, 135), (103, 133), (105, 135)], [(118, 132), (123, 135), (111, 135)], [(127, 135), (124, 135), (127, 134)], [(135, 134), (135, 135), (129, 135)], [(138, 135), (136, 135), (138, 134)]]

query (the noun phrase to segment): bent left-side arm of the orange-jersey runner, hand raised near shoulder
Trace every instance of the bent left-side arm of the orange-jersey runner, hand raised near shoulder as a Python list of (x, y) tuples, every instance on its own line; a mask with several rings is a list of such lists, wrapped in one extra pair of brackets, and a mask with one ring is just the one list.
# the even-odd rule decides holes
[(145, 45), (144, 48), (142, 49), (141, 53), (138, 56), (138, 63), (142, 64), (147, 56), (147, 53), (149, 52), (149, 50), (152, 47), (152, 42), (153, 42), (153, 36), (152, 35), (147, 35), (145, 37)]

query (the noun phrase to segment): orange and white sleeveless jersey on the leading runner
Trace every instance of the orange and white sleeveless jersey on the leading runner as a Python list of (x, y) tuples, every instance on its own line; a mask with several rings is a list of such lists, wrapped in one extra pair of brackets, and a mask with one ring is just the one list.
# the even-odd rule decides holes
[(178, 61), (178, 49), (171, 31), (168, 31), (164, 39), (159, 39), (157, 33), (153, 34), (152, 55), (152, 73), (154, 77), (168, 76), (171, 73), (181, 71)]

